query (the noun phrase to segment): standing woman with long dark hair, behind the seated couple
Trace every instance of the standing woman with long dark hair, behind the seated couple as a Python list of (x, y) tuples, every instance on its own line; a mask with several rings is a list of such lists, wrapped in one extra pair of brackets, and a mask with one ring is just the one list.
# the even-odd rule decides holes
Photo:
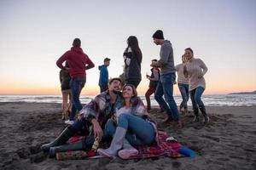
[(124, 53), (125, 59), (125, 83), (132, 84), (137, 88), (142, 80), (141, 63), (143, 54), (138, 46), (137, 37), (130, 36), (127, 39), (127, 48)]

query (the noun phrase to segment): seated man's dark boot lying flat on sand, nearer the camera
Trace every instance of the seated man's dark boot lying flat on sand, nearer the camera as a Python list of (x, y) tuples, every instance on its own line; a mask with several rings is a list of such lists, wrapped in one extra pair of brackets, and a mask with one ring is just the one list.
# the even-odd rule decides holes
[(66, 150), (84, 150), (85, 144), (83, 140), (80, 140), (74, 144), (63, 144), (55, 147), (49, 148), (49, 157), (55, 157), (57, 152), (62, 152)]

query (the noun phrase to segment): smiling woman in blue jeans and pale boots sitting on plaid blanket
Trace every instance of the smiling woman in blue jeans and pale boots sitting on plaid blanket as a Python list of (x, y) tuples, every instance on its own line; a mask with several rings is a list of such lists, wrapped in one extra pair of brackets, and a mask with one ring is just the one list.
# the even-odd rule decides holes
[(123, 106), (108, 120), (106, 131), (113, 137), (107, 150), (98, 149), (101, 156), (128, 159), (138, 151), (131, 145), (153, 144), (157, 139), (155, 123), (150, 119), (143, 101), (131, 84), (123, 87)]

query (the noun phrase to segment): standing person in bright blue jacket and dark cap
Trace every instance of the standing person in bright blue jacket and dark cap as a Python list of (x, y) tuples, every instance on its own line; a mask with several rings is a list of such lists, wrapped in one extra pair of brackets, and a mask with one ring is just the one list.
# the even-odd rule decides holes
[(110, 64), (110, 59), (105, 58), (104, 59), (104, 65), (99, 65), (99, 71), (100, 71), (100, 80), (99, 80), (99, 86), (101, 88), (101, 93), (106, 91), (108, 89), (108, 66)]

